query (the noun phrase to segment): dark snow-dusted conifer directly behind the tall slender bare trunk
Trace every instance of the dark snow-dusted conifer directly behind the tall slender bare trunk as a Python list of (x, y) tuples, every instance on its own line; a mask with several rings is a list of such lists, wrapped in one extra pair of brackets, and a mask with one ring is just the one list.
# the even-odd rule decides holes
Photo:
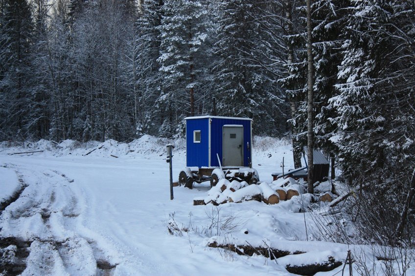
[[(337, 148), (330, 138), (337, 131), (336, 125), (330, 120), (337, 116), (335, 108), (329, 101), (337, 94), (338, 66), (343, 58), (341, 45), (345, 40), (344, 30), (346, 28), (347, 4), (344, 0), (317, 0), (314, 1), (311, 9), (312, 17), (312, 53), (314, 55), (314, 85), (313, 85), (313, 134), (315, 148), (323, 149), (326, 154), (333, 155)], [(304, 7), (300, 9), (304, 14)], [(304, 23), (297, 26), (297, 30), (305, 30)], [(287, 64), (290, 76), (281, 79), (281, 83), (289, 88), (289, 94), (293, 101), (297, 101), (295, 112), (293, 112), (294, 140), (298, 141), (298, 150), (305, 146), (307, 119), (306, 88), (307, 85), (307, 64), (305, 55), (304, 40), (302, 34), (290, 34), (288, 40), (295, 42), (293, 45), (297, 50), (297, 62)]]

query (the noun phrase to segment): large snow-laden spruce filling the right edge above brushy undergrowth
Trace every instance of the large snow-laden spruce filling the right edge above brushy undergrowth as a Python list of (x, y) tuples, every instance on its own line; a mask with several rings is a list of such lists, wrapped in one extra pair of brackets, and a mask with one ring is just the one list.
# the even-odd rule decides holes
[[(413, 5), (354, 4), (342, 45), (339, 91), (330, 100), (338, 114), (332, 119), (338, 127), (332, 141), (340, 149), (348, 183), (370, 184), (359, 196), (363, 212), (356, 215), (365, 238), (393, 245), (414, 233), (408, 212), (415, 186)], [(392, 196), (396, 200), (385, 205)]]

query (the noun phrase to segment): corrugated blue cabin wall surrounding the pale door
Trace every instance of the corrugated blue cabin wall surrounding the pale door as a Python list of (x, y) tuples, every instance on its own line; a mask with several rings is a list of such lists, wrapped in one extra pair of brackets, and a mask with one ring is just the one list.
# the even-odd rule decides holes
[[(243, 154), (244, 154), (244, 167), (249, 167), (251, 161), (251, 120), (238, 120), (228, 118), (212, 118), (210, 125), (211, 142), (210, 142), (210, 166), (219, 167), (218, 158), (216, 153), (222, 162), (222, 140), (223, 140), (223, 126), (224, 125), (242, 125), (244, 126), (244, 141), (243, 141)], [(247, 142), (250, 143), (250, 149), (247, 147)]]

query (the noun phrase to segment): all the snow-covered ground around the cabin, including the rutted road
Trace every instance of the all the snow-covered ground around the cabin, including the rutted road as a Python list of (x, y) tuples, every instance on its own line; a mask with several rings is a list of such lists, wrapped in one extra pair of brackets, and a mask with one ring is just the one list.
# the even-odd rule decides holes
[[(167, 143), (151, 136), (129, 144), (1, 143), (0, 201), (18, 195), (1, 209), (1, 269), (15, 266), (23, 275), (292, 275), (287, 265), (331, 256), (343, 264), (317, 275), (342, 275), (347, 251), (357, 248), (366, 252), (368, 267), (382, 274), (382, 262), (368, 248), (319, 241), (316, 214), (299, 212), (301, 196), (276, 205), (193, 206), (193, 198), (207, 195), (205, 182), (192, 190), (175, 187), (170, 200)], [(174, 144), (177, 180), (185, 149), (182, 140)], [(13, 154), (30, 151), (41, 152)], [(285, 169), (293, 167), (288, 141), (255, 138), (260, 181), (272, 182), (282, 157)], [(207, 247), (212, 242), (304, 253), (271, 260)], [(415, 274), (411, 269), (407, 275)], [(344, 275), (348, 271), (346, 265)]]

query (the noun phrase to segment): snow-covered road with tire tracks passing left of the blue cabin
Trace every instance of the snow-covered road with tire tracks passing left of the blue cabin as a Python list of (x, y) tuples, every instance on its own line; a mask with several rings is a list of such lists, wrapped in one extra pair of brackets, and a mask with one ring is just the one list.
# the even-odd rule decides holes
[[(184, 164), (173, 165), (173, 175), (178, 175)], [(234, 272), (217, 252), (204, 252), (206, 249), (192, 245), (190, 238), (167, 234), (169, 214), (183, 210), (183, 216), (191, 212), (193, 197), (208, 187), (175, 188), (175, 199), (170, 201), (168, 165), (160, 157), (2, 155), (0, 166), (16, 171), (27, 185), (1, 220), (2, 236), (35, 241), (23, 274)], [(50, 261), (45, 263), (44, 258)], [(243, 269), (239, 272), (245, 273), (251, 274)]]

